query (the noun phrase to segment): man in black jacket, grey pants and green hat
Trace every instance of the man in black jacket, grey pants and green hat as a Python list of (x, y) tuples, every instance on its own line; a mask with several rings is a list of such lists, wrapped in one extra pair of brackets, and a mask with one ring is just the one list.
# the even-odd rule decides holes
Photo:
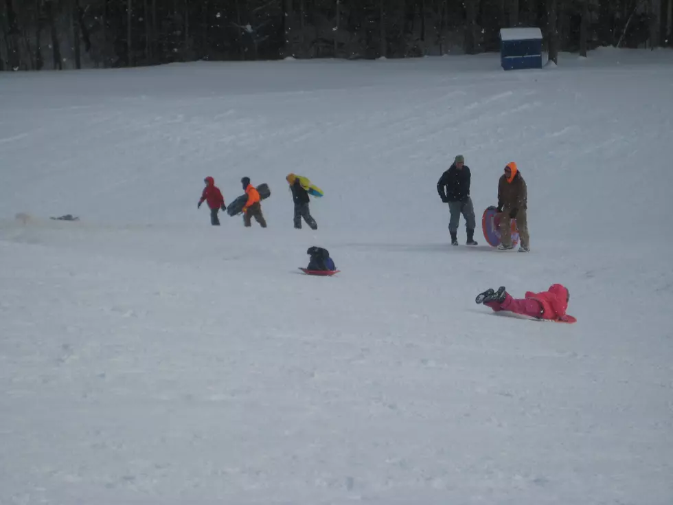
[(437, 193), (444, 203), (448, 203), (451, 218), (448, 231), (451, 234), (451, 244), (458, 245), (458, 223), (460, 214), (465, 218), (465, 227), (468, 234), (468, 245), (477, 245), (475, 242), (475, 207), (470, 199), (470, 168), (465, 165), (465, 158), (457, 155), (453, 165), (442, 174), (437, 181)]

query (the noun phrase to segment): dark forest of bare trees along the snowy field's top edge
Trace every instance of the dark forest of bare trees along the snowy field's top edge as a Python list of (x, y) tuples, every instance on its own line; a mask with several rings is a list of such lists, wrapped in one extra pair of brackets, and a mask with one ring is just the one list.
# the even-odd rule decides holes
[(0, 70), (673, 46), (673, 0), (0, 0)]

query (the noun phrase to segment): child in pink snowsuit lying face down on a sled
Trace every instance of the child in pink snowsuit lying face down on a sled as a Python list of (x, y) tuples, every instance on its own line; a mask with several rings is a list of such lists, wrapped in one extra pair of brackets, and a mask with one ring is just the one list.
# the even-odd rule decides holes
[(566, 311), (570, 292), (562, 284), (552, 284), (547, 291), (526, 291), (525, 298), (512, 298), (502, 286), (498, 291), (488, 289), (477, 296), (477, 304), (483, 303), (494, 311), (509, 311), (538, 319), (568, 319)]

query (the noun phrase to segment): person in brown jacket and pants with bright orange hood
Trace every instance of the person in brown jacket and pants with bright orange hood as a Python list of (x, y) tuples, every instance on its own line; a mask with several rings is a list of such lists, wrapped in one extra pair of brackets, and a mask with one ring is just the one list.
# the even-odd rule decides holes
[(512, 249), (512, 219), (516, 219), (521, 247), (519, 252), (530, 250), (530, 236), (528, 234), (528, 190), (526, 181), (512, 161), (505, 166), (505, 173), (498, 183), (498, 212), (500, 216), (501, 244), (498, 249), (505, 251)]

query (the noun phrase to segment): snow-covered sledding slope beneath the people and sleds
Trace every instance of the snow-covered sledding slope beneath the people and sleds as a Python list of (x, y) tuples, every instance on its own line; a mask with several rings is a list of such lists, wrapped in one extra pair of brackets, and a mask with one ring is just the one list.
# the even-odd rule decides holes
[[(0, 503), (670, 505), (672, 97), (613, 49), (0, 74)], [(448, 245), (457, 154), (531, 253)], [(554, 282), (577, 324), (474, 302)]]

